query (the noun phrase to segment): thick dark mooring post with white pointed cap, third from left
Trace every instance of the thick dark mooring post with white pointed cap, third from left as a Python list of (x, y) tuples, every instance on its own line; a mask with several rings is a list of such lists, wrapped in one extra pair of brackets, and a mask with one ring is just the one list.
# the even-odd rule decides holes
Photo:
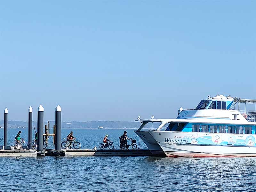
[(37, 108), (37, 150), (43, 151), (44, 146), (44, 108), (40, 105)]

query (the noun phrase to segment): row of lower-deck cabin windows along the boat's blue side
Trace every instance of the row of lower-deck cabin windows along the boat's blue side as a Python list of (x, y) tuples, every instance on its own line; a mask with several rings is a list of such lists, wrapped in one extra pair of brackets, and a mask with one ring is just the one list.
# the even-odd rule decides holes
[(192, 124), (192, 132), (252, 134), (252, 126)]

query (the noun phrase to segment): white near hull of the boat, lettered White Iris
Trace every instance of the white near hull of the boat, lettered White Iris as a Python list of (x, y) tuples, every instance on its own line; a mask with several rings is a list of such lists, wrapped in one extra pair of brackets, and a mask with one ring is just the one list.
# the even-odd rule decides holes
[[(248, 144), (253, 143), (246, 143), (248, 137), (253, 140), (255, 139), (253, 135), (239, 135), (236, 134), (237, 139), (229, 141), (230, 138), (229, 134), (217, 134), (218, 137), (221, 138), (221, 142), (219, 144), (214, 143), (214, 137), (216, 133), (207, 133), (206, 138), (213, 138), (213, 140), (208, 139), (206, 140), (200, 135), (193, 135), (195, 133), (184, 133), (184, 132), (149, 132), (150, 135), (156, 140), (159, 146), (164, 151), (165, 155), (168, 157), (254, 157), (256, 156), (256, 146), (252, 145), (249, 146)], [(160, 134), (159, 134), (160, 133)], [(231, 136), (234, 137), (235, 136)], [(244, 143), (243, 143), (244, 137)], [(201, 143), (192, 142), (193, 139), (197, 138), (198, 141)], [(201, 140), (199, 139), (201, 138)], [(203, 139), (202, 139), (203, 138)], [(241, 139), (242, 138), (242, 139)], [(206, 141), (204, 141), (206, 140)], [(227, 140), (227, 141), (226, 141)], [(206, 142), (206, 143), (203, 143)], [(227, 143), (227, 144), (225, 144)]]

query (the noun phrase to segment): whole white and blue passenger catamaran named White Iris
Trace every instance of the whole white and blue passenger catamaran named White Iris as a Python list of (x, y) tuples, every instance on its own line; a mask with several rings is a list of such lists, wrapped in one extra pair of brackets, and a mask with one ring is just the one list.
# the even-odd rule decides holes
[[(164, 152), (169, 157), (256, 156), (256, 114), (246, 110), (246, 104), (252, 103), (256, 104), (256, 100), (209, 96), (195, 109), (182, 110), (176, 119), (137, 120), (142, 124), (135, 132), (158, 155)], [(147, 124), (156, 122), (160, 124), (156, 130), (142, 131)]]

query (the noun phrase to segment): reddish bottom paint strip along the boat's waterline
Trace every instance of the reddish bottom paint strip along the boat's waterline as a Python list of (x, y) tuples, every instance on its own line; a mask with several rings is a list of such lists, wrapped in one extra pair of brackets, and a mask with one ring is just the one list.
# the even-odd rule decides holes
[(208, 153), (169, 153), (165, 152), (167, 157), (256, 157), (256, 154), (208, 154)]

